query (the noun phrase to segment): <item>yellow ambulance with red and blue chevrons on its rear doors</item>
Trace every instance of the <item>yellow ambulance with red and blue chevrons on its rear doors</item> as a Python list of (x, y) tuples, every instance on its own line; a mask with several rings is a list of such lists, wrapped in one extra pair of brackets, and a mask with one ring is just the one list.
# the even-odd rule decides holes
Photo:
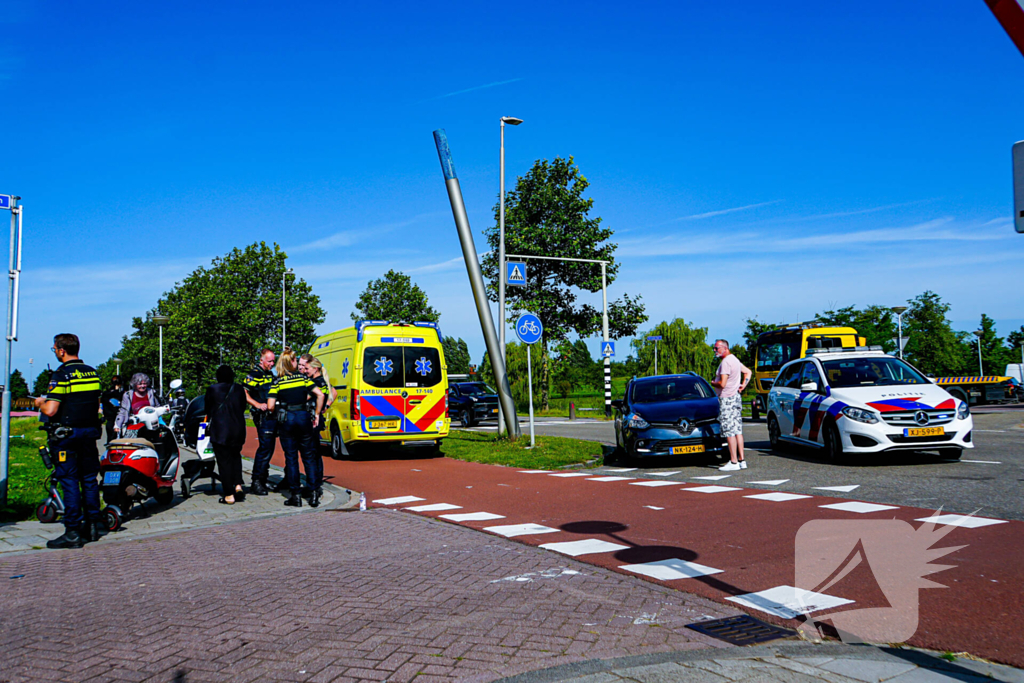
[(335, 458), (374, 443), (436, 450), (447, 436), (447, 368), (436, 323), (359, 321), (319, 337), (309, 352), (338, 390), (319, 435)]

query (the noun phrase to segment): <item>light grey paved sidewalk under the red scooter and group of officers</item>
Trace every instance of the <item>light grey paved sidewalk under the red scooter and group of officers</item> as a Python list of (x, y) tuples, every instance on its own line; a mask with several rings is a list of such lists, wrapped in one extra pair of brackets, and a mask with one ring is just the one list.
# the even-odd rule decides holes
[[(196, 454), (188, 450), (181, 451), (184, 460), (190, 460)], [(252, 474), (253, 463), (248, 458), (242, 459), (243, 478), (247, 486)], [(276, 481), (283, 476), (280, 468), (271, 467), (270, 481)], [(309, 512), (313, 508), (303, 505), (301, 508), (286, 508), (285, 498), (279, 494), (268, 496), (247, 496), (244, 503), (236, 505), (220, 505), (220, 484), (216, 490), (210, 485), (210, 479), (200, 479), (188, 500), (181, 498), (180, 480), (174, 486), (174, 501), (169, 506), (159, 506), (152, 499), (143, 506), (148, 512), (146, 517), (137, 517), (125, 522), (116, 533), (109, 533), (97, 543), (108, 544), (127, 539), (145, 538), (169, 531), (181, 531), (190, 528), (214, 526), (241, 519), (273, 517), (285, 514)], [(40, 489), (40, 501), (45, 493)], [(356, 499), (358, 495), (356, 494)], [(345, 488), (325, 485), (321, 510), (349, 505), (349, 495)], [(136, 506), (137, 507), (137, 506)], [(46, 550), (46, 542), (63, 533), (63, 525), (57, 521), (53, 524), (43, 524), (38, 521), (26, 521), (0, 524), (0, 554)], [(0, 677), (2, 683), (2, 677)]]

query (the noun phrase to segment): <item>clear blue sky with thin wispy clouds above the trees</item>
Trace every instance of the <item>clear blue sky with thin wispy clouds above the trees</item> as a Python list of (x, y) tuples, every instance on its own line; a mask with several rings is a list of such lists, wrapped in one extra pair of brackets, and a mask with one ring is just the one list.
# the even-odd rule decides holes
[(396, 268), (478, 359), (431, 131), (482, 251), (503, 115), (525, 120), (509, 183), (574, 156), (620, 244), (609, 296), (643, 295), (652, 323), (735, 339), (748, 316), (927, 289), (961, 329), (1024, 323), (1024, 59), (982, 2), (381, 7), (4, 3), (14, 367), (63, 331), (105, 359), (175, 282), (260, 240), (321, 294), (323, 331)]

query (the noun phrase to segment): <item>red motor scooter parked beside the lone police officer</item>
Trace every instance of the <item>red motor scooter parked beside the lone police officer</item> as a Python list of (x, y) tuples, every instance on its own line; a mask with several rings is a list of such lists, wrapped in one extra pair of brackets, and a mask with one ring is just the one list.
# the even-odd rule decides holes
[(131, 516), (135, 503), (153, 498), (160, 505), (174, 500), (178, 475), (178, 443), (161, 418), (171, 413), (168, 405), (147, 405), (128, 420), (124, 436), (106, 444), (99, 459), (100, 490), (106, 528), (121, 527)]

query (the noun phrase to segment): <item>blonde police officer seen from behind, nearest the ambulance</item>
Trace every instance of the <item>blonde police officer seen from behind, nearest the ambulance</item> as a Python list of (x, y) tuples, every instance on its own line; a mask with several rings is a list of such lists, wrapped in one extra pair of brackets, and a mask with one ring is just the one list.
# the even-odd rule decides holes
[[(319, 447), (311, 436), (319, 425), (319, 413), (324, 408), (324, 392), (305, 375), (298, 371), (295, 352), (285, 349), (281, 353), (278, 379), (270, 385), (267, 407), (274, 414), (281, 435), (281, 447), (285, 451), (285, 481), (292, 496), (285, 505), (301, 508), (302, 498), (299, 486), (299, 453), (302, 453), (302, 467), (306, 471), (306, 483), (312, 495), (311, 507), (319, 506), (321, 477), (324, 463), (319, 459)], [(315, 413), (309, 414), (307, 402), (315, 400)]]

